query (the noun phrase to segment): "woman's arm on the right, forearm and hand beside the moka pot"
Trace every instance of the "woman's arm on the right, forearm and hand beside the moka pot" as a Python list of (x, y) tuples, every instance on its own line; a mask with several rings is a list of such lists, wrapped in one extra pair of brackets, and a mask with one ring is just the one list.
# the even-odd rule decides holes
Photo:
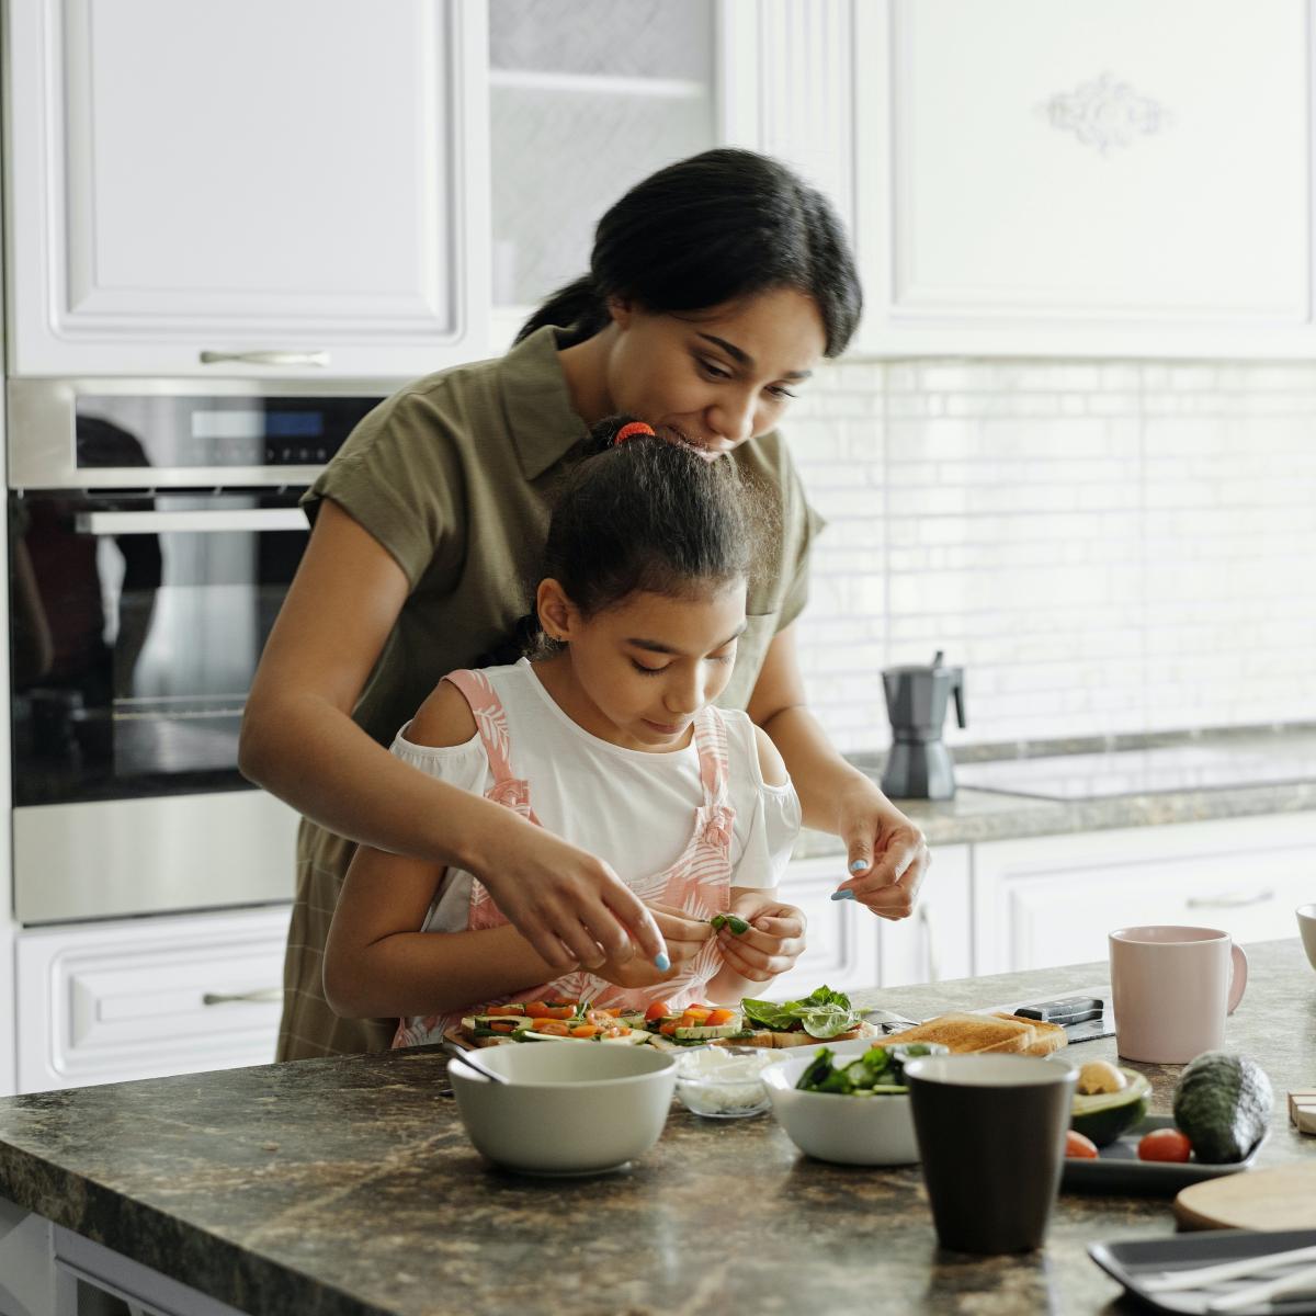
[(805, 826), (846, 842), (854, 876), (832, 899), (846, 899), (849, 892), (883, 919), (905, 919), (930, 863), (928, 846), (919, 828), (841, 758), (805, 707), (794, 632), (787, 626), (769, 646), (749, 715), (786, 759)]

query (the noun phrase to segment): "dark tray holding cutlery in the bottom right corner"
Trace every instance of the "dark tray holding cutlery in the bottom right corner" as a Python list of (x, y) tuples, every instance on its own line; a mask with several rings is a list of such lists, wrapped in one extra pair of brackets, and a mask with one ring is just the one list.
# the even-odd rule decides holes
[[(1178, 1294), (1157, 1294), (1146, 1288), (1145, 1280), (1167, 1270), (1191, 1270), (1196, 1266), (1215, 1266), (1245, 1257), (1265, 1257), (1273, 1252), (1295, 1252), (1316, 1246), (1316, 1229), (1287, 1229), (1259, 1233), (1252, 1229), (1212, 1229), (1205, 1233), (1175, 1234), (1169, 1238), (1145, 1238), (1137, 1242), (1094, 1242), (1087, 1254), (1113, 1280), (1144, 1303), (1162, 1312), (1180, 1312), (1186, 1316), (1205, 1316), (1207, 1303), (1223, 1298), (1229, 1288), (1188, 1288)], [(1302, 1265), (1302, 1262), (1299, 1262)], [(1271, 1275), (1234, 1280), (1230, 1287), (1254, 1284)], [(1277, 1298), (1259, 1307), (1248, 1307), (1234, 1316), (1316, 1316), (1316, 1296)]]

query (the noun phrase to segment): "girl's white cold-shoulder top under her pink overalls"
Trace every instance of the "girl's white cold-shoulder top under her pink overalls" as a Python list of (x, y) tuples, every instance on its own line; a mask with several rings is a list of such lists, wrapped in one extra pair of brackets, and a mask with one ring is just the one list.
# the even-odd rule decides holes
[[(694, 829), (703, 803), (699, 751), (650, 754), (622, 749), (578, 726), (521, 659), (486, 667), (484, 675), (507, 711), (512, 767), (530, 784), (530, 807), (547, 830), (609, 863), (622, 882), (647, 878), (674, 863)], [(794, 786), (769, 786), (758, 763), (754, 724), (738, 709), (724, 709), (729, 759), (728, 803), (736, 811), (732, 886), (775, 887), (800, 830)], [(465, 745), (436, 747), (393, 737), (397, 758), (430, 776), (483, 795), (494, 784), (479, 736)], [(430, 907), (426, 930), (466, 928), (471, 875), (449, 869)]]

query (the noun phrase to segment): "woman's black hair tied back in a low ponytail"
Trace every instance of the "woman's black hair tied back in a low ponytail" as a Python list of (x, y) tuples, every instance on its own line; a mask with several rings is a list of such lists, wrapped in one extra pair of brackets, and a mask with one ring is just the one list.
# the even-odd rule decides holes
[(863, 297), (854, 257), (830, 201), (780, 161), (734, 147), (678, 161), (637, 183), (599, 221), (590, 272), (559, 288), (522, 325), (609, 322), (608, 299), (646, 311), (703, 311), (795, 288), (811, 296), (838, 357)]

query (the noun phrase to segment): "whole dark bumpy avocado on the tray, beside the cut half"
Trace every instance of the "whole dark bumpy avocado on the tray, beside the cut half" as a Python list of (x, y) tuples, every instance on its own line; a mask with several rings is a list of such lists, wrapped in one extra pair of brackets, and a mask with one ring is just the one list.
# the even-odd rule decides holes
[(1242, 1161), (1270, 1126), (1274, 1091), (1266, 1071), (1246, 1055), (1203, 1051), (1174, 1090), (1174, 1123), (1199, 1161)]

